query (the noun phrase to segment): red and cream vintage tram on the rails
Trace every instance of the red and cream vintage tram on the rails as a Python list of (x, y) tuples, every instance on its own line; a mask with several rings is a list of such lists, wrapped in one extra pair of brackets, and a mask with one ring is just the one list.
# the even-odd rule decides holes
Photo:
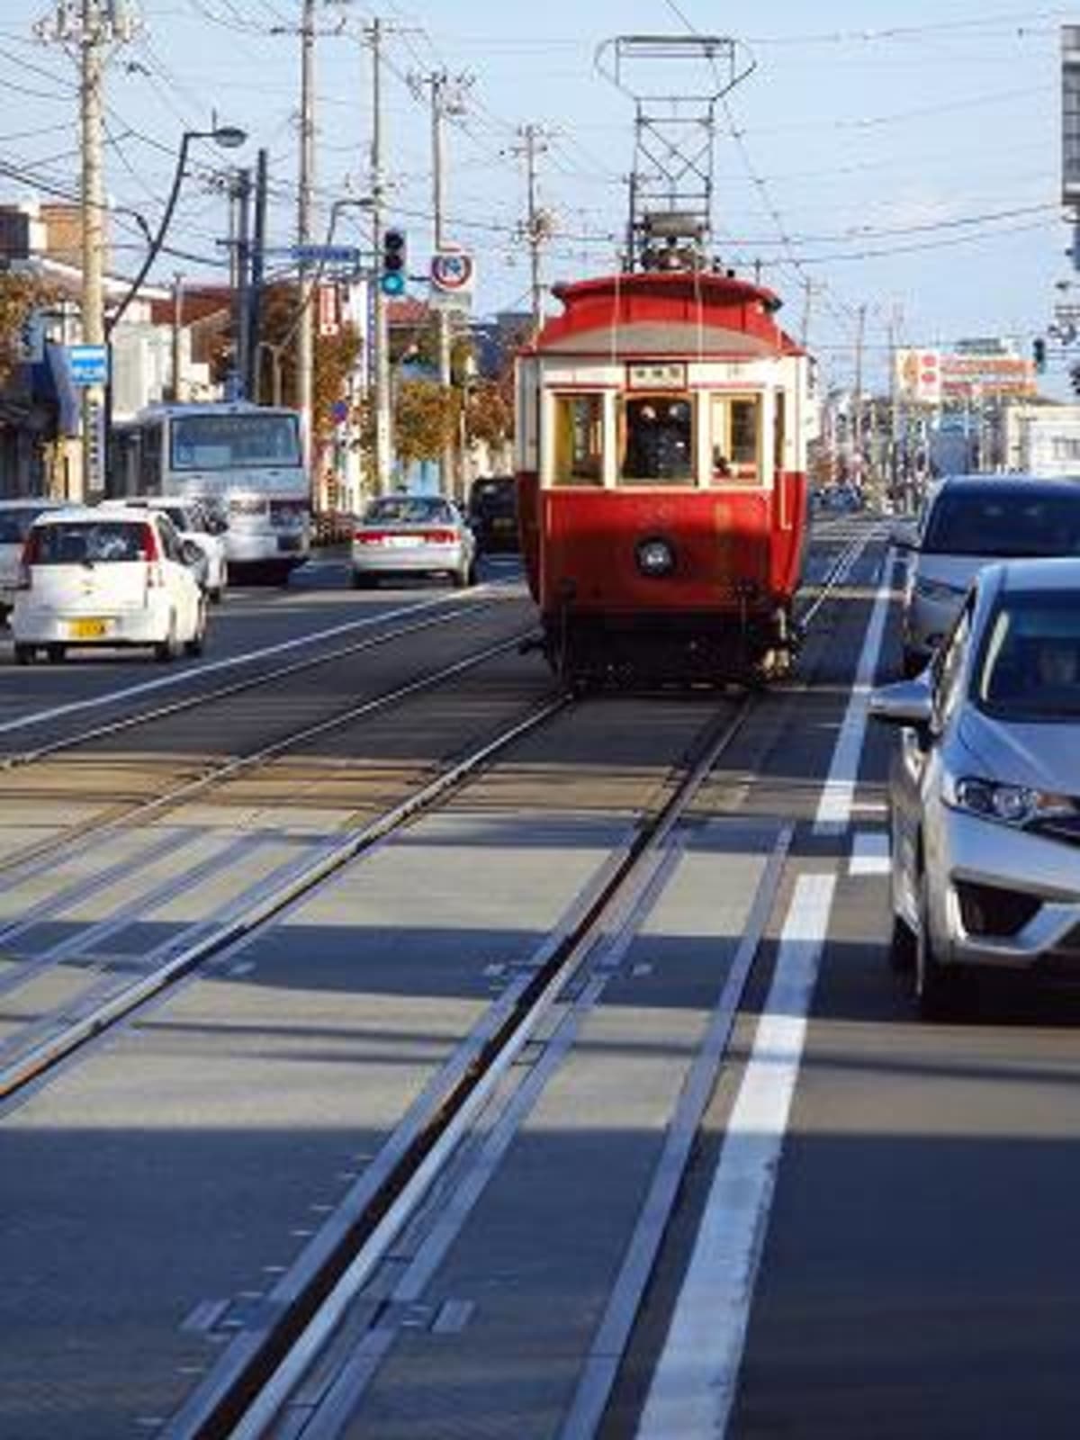
[(517, 363), (521, 543), (567, 683), (775, 675), (796, 642), (809, 360), (730, 272), (556, 287)]

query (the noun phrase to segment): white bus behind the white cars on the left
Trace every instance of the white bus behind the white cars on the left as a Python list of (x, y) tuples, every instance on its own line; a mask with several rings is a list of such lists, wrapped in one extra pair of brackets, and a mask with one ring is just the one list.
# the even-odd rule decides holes
[(297, 410), (154, 405), (118, 428), (112, 445), (112, 492), (204, 501), (228, 521), (230, 572), (285, 580), (307, 560), (311, 482)]

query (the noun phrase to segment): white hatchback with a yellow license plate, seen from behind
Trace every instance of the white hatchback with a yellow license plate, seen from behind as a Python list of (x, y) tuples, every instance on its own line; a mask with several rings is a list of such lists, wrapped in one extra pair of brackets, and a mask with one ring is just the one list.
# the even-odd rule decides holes
[(153, 510), (72, 507), (39, 516), (23, 549), (12, 611), (14, 657), (72, 647), (148, 645), (158, 660), (199, 655), (206, 598), (202, 552)]

